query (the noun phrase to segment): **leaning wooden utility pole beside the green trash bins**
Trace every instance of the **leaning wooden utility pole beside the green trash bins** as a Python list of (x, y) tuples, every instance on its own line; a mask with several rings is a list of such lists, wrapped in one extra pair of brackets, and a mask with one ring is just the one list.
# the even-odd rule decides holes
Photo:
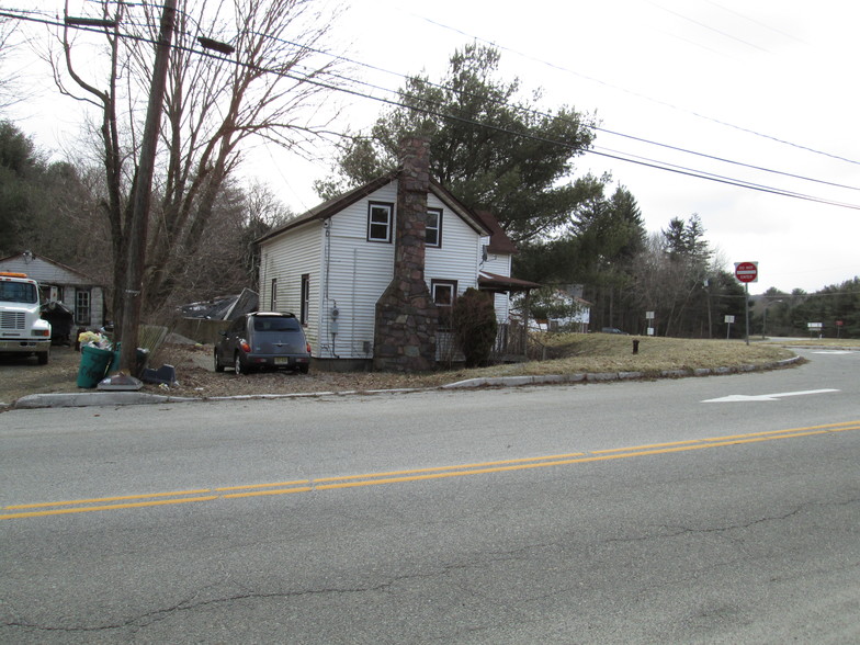
[(120, 366), (133, 375), (137, 360), (138, 329), (140, 327), (140, 305), (144, 288), (144, 267), (146, 265), (146, 241), (149, 228), (149, 203), (152, 190), (152, 172), (158, 148), (158, 134), (161, 125), (161, 106), (167, 84), (167, 68), (170, 59), (170, 44), (176, 24), (177, 1), (165, 0), (161, 13), (161, 27), (156, 45), (156, 60), (152, 69), (152, 83), (149, 89), (149, 104), (140, 145), (135, 192), (133, 196), (132, 220), (129, 223), (128, 254), (125, 273), (125, 294), (123, 297), (123, 318), (120, 338), (123, 342)]

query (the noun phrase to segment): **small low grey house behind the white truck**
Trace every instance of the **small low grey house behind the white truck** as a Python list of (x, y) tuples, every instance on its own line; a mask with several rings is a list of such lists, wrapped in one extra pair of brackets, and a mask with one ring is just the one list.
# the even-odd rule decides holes
[(30, 251), (0, 258), (0, 271), (26, 273), (38, 281), (45, 303), (61, 303), (78, 327), (104, 325), (104, 288), (92, 278)]

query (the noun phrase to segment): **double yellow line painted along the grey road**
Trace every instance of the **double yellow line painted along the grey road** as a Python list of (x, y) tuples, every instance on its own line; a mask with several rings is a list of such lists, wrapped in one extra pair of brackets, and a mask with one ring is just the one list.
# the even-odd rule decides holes
[(668, 454), (686, 452), (690, 450), (702, 450), (705, 448), (739, 445), (744, 443), (774, 441), (778, 439), (794, 439), (799, 437), (812, 437), (816, 434), (830, 434), (834, 432), (845, 432), (846, 430), (860, 430), (860, 421), (829, 423), (825, 426), (811, 426), (806, 428), (793, 428), (790, 430), (772, 430), (769, 432), (752, 432), (748, 434), (732, 434), (727, 437), (712, 437), (709, 439), (692, 439), (689, 441), (675, 441), (670, 443), (653, 443), (648, 445), (616, 448), (611, 450), (596, 450), (589, 453), (573, 452), (567, 454), (555, 454), (540, 457), (459, 464), (454, 466), (441, 466), (432, 468), (391, 471), (383, 473), (370, 473), (365, 475), (349, 475), (343, 477), (295, 479), (291, 482), (276, 482), (272, 484), (229, 486), (224, 488), (200, 488), (194, 490), (177, 490), (172, 493), (154, 493), (149, 495), (98, 497), (92, 499), (76, 499), (70, 501), (20, 503), (3, 507), (2, 510), (5, 512), (0, 513), (0, 520), (60, 516), (68, 513), (84, 513), (129, 508), (146, 508), (176, 503), (193, 503), (214, 501), (217, 499), (238, 499), (268, 495), (290, 495), (295, 493), (355, 488), (359, 486), (378, 486), (382, 484), (442, 479), (445, 477), (464, 477), (466, 475), (485, 475), (490, 473), (524, 471), (529, 468), (545, 468), (550, 466), (563, 466), (569, 464), (620, 460), (645, 455)]

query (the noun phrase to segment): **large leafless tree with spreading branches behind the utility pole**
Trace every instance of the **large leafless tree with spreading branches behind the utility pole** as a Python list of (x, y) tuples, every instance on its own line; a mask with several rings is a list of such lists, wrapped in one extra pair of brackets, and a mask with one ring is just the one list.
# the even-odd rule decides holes
[[(324, 116), (320, 105), (338, 83), (331, 75), (337, 58), (321, 53), (332, 18), (319, 15), (317, 7), (313, 0), (180, 2), (150, 213), (145, 312), (168, 303), (189, 263), (205, 259), (204, 233), (225, 212), (218, 200), (252, 137), (302, 154), (326, 134), (333, 114)], [(105, 21), (99, 23), (104, 71), (95, 80), (79, 71), (91, 69), (92, 53), (81, 47), (88, 59), (76, 57), (81, 36), (68, 26), (59, 34), (61, 57), (53, 57), (57, 87), (93, 105), (101, 122), (114, 312), (121, 310), (128, 196), (159, 10), (150, 1), (101, 2), (95, 18)]]

